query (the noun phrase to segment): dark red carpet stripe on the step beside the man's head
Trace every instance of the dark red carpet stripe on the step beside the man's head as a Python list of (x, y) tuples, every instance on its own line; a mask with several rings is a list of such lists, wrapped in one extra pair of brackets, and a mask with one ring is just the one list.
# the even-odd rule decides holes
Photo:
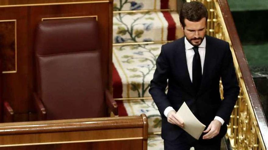
[(168, 38), (167, 39), (168, 39), (168, 41), (175, 40), (176, 23), (175, 23), (174, 19), (172, 18), (170, 12), (162, 12), (162, 13), (168, 22)]

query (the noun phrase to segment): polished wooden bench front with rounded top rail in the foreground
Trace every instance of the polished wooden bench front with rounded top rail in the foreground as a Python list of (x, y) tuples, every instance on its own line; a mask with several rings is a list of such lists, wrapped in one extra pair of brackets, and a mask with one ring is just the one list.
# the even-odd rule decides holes
[[(144, 114), (129, 117), (2, 123), (0, 147), (84, 142), (91, 142), (91, 146), (98, 147), (105, 145), (104, 142), (113, 141), (115, 145), (111, 149), (121, 149), (120, 146), (125, 143), (136, 149), (147, 149), (147, 133), (148, 122)], [(109, 145), (106, 145), (107, 148)]]

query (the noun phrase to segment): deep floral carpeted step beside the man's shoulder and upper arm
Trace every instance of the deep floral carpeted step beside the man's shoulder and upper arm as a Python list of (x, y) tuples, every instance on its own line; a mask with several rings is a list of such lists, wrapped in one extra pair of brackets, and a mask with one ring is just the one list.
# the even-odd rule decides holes
[(114, 98), (151, 97), (148, 92), (162, 44), (113, 46)]

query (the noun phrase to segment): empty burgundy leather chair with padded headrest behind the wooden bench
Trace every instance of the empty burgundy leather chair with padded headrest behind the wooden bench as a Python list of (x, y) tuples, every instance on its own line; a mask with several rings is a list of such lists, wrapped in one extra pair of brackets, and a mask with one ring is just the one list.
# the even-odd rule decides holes
[(103, 84), (99, 44), (95, 18), (46, 20), (38, 25), (34, 100), (39, 119), (105, 117), (108, 107), (118, 115)]

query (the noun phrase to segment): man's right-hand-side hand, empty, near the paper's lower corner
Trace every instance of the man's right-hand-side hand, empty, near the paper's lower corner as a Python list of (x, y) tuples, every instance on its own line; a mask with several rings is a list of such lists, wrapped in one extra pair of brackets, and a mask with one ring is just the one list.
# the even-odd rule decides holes
[(214, 138), (216, 135), (220, 132), (221, 123), (220, 121), (214, 119), (212, 122), (210, 122), (210, 125), (207, 127), (204, 133), (207, 133), (203, 136), (203, 139), (211, 139)]

